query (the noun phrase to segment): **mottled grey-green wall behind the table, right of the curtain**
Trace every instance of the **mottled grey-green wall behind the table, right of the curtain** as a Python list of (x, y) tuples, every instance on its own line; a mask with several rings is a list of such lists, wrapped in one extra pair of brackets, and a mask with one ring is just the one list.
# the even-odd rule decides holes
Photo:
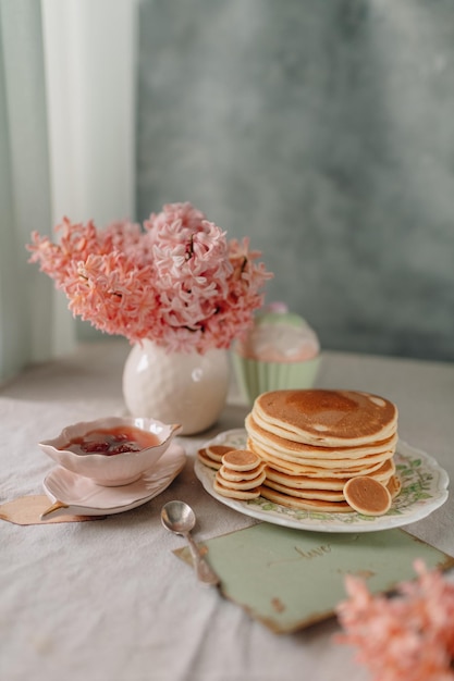
[(137, 219), (249, 235), (331, 349), (454, 359), (454, 1), (143, 0)]

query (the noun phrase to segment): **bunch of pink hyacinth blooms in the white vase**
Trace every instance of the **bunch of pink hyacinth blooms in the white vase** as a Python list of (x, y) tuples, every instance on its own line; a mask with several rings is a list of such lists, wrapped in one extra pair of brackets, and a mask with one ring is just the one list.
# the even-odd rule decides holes
[(169, 203), (144, 223), (98, 230), (65, 218), (58, 244), (32, 234), (37, 262), (97, 329), (169, 350), (228, 348), (253, 322), (272, 276), (249, 242), (226, 240), (191, 203)]

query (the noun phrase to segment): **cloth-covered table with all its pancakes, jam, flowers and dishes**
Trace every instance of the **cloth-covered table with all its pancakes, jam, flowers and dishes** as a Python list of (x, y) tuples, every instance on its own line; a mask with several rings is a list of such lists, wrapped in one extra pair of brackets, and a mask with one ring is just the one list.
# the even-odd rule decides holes
[(0, 384), (0, 679), (454, 680), (454, 364), (328, 349), (188, 202), (56, 231), (114, 337)]

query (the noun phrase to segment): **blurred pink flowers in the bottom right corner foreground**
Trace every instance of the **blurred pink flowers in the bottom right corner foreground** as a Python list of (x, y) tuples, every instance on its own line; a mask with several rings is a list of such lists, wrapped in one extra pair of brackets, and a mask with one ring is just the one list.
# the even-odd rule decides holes
[(345, 580), (348, 600), (338, 606), (344, 633), (335, 640), (357, 648), (356, 660), (376, 681), (454, 680), (454, 584), (415, 561), (418, 579), (395, 597), (373, 596), (364, 580)]

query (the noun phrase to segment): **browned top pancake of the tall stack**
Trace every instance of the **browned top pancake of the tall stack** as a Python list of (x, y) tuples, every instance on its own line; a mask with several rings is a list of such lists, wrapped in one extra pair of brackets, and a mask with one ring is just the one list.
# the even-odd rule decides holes
[(285, 389), (259, 395), (254, 420), (291, 442), (356, 447), (391, 437), (396, 430), (394, 404), (358, 391)]

